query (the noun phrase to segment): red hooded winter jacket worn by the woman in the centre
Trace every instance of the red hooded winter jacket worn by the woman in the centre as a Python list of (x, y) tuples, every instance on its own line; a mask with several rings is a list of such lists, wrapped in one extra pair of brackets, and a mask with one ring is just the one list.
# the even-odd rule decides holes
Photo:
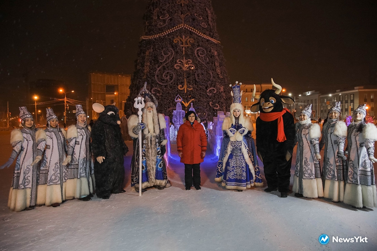
[(178, 130), (177, 150), (181, 150), (183, 156), (181, 162), (185, 164), (198, 164), (203, 162), (201, 153), (207, 150), (207, 137), (204, 128), (197, 120), (191, 126), (186, 120)]

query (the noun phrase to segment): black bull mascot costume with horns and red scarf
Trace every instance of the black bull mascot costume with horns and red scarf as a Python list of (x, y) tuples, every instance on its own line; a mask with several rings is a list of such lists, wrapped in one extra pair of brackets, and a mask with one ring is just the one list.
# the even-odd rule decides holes
[(286, 198), (296, 142), (293, 115), (287, 108), (283, 108), (283, 103), (294, 104), (294, 100), (289, 96), (280, 96), (282, 87), (275, 84), (272, 78), (271, 83), (277, 89), (264, 90), (259, 102), (251, 106), (251, 112), (260, 112), (256, 119), (256, 146), (268, 186), (264, 191), (279, 190), (280, 196)]

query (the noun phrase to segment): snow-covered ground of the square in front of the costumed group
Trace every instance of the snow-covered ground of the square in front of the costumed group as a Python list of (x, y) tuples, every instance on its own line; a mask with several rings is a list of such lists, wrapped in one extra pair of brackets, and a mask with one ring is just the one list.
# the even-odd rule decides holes
[[(11, 154), (9, 135), (0, 132), (1, 164)], [(130, 190), (132, 142), (127, 145), (126, 193), (108, 200), (94, 196), (15, 213), (7, 207), (14, 165), (0, 170), (0, 250), (377, 250), (375, 208), (293, 193), (280, 198), (264, 188), (226, 190), (214, 182), (217, 158), (210, 154), (201, 164), (202, 189), (186, 191), (176, 145), (168, 167), (172, 187), (139, 197)], [(321, 234), (328, 244), (319, 243)], [(333, 243), (333, 236), (354, 242)], [(356, 242), (359, 236), (367, 242)]]

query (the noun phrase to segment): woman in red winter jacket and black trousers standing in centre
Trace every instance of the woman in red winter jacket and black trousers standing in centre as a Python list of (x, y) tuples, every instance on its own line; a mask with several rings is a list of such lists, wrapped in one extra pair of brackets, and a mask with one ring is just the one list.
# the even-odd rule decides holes
[(190, 190), (192, 185), (200, 190), (200, 163), (207, 150), (207, 137), (194, 111), (188, 111), (185, 118), (178, 130), (177, 149), (181, 162), (185, 164), (186, 190)]

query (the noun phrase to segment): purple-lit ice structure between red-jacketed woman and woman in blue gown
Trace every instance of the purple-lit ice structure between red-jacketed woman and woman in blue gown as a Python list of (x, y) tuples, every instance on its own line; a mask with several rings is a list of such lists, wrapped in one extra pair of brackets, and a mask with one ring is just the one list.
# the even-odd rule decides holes
[[(227, 112), (226, 116), (230, 116), (230, 112)], [(208, 125), (208, 143), (216, 156), (220, 155), (223, 138), (221, 127), (226, 116), (224, 112), (217, 112), (217, 117), (213, 117), (213, 124), (211, 124), (211, 126)]]

